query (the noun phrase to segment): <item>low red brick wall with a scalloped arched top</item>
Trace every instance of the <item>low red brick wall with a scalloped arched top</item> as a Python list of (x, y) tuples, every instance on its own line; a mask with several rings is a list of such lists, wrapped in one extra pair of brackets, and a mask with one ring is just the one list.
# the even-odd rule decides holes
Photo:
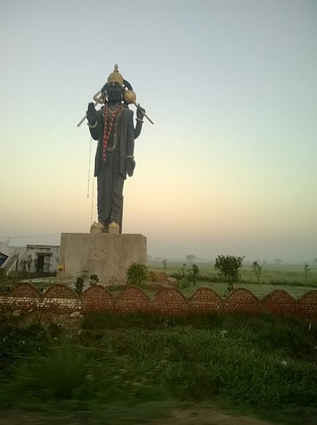
[(77, 295), (67, 285), (53, 285), (42, 294), (31, 283), (18, 285), (8, 295), (0, 296), (0, 310), (28, 311), (39, 308), (48, 312), (67, 313), (74, 311), (108, 312), (159, 312), (163, 314), (191, 314), (212, 311), (272, 312), (292, 314), (307, 319), (317, 319), (317, 290), (311, 290), (299, 300), (285, 290), (274, 290), (259, 300), (248, 289), (237, 288), (222, 298), (212, 288), (199, 288), (189, 298), (174, 288), (162, 288), (150, 300), (136, 286), (123, 289), (114, 297), (101, 285), (94, 285)]

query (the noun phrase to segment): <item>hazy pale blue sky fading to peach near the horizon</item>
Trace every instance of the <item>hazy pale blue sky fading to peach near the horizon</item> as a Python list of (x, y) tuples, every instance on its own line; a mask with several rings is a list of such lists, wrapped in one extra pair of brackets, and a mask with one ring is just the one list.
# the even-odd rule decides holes
[(117, 63), (154, 121), (123, 232), (153, 257), (315, 259), (316, 23), (316, 0), (0, 0), (0, 241), (98, 221), (77, 124)]

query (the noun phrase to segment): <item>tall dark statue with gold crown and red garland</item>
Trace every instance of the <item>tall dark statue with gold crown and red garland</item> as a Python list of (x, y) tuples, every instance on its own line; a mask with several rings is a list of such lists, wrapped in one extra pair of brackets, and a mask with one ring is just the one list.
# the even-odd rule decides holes
[[(93, 103), (88, 104), (86, 117), (91, 137), (98, 140), (95, 159), (95, 176), (98, 183), (98, 221), (108, 232), (108, 226), (116, 223), (122, 229), (123, 184), (134, 171), (134, 139), (141, 130), (145, 111), (137, 108), (137, 124), (134, 128), (133, 111), (127, 105), (127, 89), (132, 87), (125, 81), (115, 65), (115, 70), (101, 89), (100, 99), (104, 103), (96, 111)], [(135, 96), (135, 95), (134, 95)]]

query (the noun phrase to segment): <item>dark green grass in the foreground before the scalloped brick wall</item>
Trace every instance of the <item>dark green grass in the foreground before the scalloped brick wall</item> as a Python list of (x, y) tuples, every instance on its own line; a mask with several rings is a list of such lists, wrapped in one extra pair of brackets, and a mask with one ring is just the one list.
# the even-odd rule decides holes
[(306, 425), (316, 423), (316, 324), (309, 329), (270, 314), (91, 313), (80, 332), (55, 327), (54, 338), (50, 327), (16, 329), (7, 326), (0, 344), (0, 364), (8, 351), (16, 353), (0, 380), (0, 404), (8, 409), (101, 412), (106, 404), (118, 418), (120, 405), (137, 424), (160, 405), (163, 414), (182, 400), (204, 400), (263, 417), (284, 412), (294, 424), (309, 412), (314, 421)]

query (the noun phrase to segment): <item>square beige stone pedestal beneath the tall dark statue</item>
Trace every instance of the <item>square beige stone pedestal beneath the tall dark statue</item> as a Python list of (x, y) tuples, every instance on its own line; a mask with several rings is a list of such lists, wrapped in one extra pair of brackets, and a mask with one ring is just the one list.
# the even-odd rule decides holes
[(96, 274), (99, 282), (125, 280), (131, 263), (146, 263), (143, 234), (62, 233), (57, 280)]

